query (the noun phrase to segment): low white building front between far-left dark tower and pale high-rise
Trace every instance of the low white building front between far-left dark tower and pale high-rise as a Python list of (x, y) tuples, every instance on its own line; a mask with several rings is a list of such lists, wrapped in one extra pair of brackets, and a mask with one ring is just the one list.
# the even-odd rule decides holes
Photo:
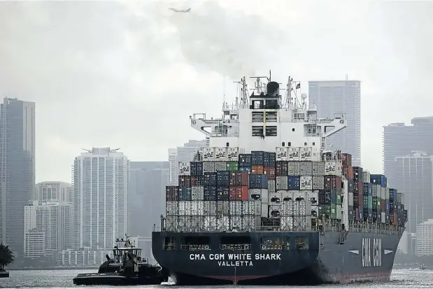
[[(72, 227), (73, 204), (29, 201), (29, 206), (24, 206), (24, 257), (52, 256), (55, 252), (72, 248)], [(43, 233), (43, 239), (38, 237), (39, 233)]]

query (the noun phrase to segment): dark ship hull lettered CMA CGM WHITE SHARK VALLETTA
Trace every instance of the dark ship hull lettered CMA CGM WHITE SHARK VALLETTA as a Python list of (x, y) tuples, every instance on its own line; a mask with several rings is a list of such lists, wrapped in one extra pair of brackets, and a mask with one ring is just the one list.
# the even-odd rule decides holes
[[(211, 237), (207, 250), (186, 251), (181, 240)], [(222, 237), (248, 237), (250, 248), (222, 250)], [(164, 239), (176, 239), (176, 248), (164, 249)], [(263, 238), (288, 238), (290, 248), (264, 250)], [(296, 248), (306, 237), (308, 248)], [(152, 252), (177, 285), (314, 285), (389, 281), (401, 235), (348, 232), (153, 232)], [(342, 243), (342, 244), (341, 244)]]

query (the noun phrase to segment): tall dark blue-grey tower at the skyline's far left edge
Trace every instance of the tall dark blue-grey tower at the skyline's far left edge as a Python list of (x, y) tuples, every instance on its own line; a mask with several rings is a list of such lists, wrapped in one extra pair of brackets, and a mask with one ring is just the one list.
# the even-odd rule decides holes
[(24, 252), (24, 206), (35, 183), (35, 104), (5, 97), (0, 106), (0, 241)]

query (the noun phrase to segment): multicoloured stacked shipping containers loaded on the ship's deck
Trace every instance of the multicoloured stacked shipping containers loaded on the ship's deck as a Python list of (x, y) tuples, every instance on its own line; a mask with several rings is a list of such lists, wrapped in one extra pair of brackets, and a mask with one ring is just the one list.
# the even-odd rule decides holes
[(343, 199), (348, 220), (390, 225), (406, 220), (401, 194), (386, 187), (385, 176), (352, 167), (350, 154), (320, 155), (311, 147), (250, 154), (204, 148), (203, 162), (179, 166), (179, 185), (166, 187), (171, 231), (257, 230), (260, 225), (311, 230), (320, 221), (342, 220)]

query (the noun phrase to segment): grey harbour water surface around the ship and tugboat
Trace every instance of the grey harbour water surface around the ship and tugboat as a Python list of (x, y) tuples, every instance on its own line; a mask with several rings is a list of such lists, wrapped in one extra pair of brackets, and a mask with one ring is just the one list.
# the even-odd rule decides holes
[[(90, 270), (91, 272), (92, 270)], [(58, 270), (58, 271), (11, 271), (10, 278), (0, 279), (0, 288), (107, 288), (108, 286), (74, 286), (72, 283), (73, 277), (78, 273), (89, 272), (89, 270)], [(409, 270), (396, 269), (392, 271), (392, 276), (389, 283), (358, 283), (350, 285), (334, 285), (320, 286), (332, 288), (433, 288), (433, 271), (427, 270)], [(129, 288), (177, 288), (177, 286), (134, 286)], [(208, 286), (206, 288), (234, 288), (247, 286)], [(275, 286), (272, 286), (274, 288)], [(289, 286), (287, 286), (289, 288)], [(114, 287), (113, 287), (114, 288)], [(128, 287), (122, 287), (128, 288)], [(185, 288), (185, 287), (183, 287)], [(265, 287), (262, 287), (265, 288)], [(301, 287), (308, 289), (308, 287)], [(313, 287), (314, 288), (314, 287)], [(317, 289), (315, 287), (314, 289)], [(260, 287), (255, 287), (260, 289)]]

